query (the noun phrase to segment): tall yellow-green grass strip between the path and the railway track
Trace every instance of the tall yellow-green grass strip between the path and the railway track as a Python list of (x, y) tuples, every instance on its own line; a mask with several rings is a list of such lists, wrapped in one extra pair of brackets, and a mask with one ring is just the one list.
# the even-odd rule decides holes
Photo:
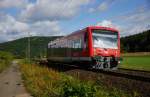
[(20, 69), (25, 86), (34, 97), (130, 97), (116, 88), (83, 82), (47, 67), (21, 64)]

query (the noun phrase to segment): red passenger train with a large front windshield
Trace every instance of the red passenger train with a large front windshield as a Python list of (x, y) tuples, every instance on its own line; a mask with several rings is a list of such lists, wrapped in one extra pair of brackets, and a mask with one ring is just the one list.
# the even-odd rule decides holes
[(110, 27), (88, 26), (48, 43), (48, 62), (116, 70), (120, 60), (120, 33)]

